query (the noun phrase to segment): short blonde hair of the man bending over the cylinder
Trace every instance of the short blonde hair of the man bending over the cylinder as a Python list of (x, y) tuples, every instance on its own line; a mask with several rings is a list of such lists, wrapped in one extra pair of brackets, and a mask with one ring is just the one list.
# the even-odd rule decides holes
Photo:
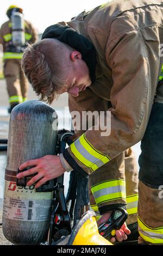
[(52, 103), (59, 89), (66, 86), (64, 71), (70, 68), (70, 50), (73, 48), (57, 39), (43, 39), (26, 48), (22, 68), (40, 100)]

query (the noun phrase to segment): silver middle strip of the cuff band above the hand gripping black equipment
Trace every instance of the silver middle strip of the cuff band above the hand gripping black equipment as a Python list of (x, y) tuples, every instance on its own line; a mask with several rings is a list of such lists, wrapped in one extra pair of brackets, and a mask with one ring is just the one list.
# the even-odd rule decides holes
[(93, 192), (93, 196), (95, 198), (98, 198), (101, 196), (106, 196), (106, 194), (119, 193), (119, 192), (126, 193), (126, 187), (124, 186), (106, 187), (106, 188), (103, 188), (102, 190)]

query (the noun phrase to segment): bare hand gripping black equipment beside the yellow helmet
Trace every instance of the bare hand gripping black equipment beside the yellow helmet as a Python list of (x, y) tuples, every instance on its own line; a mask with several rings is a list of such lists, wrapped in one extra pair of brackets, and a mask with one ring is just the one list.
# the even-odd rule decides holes
[[(110, 212), (105, 212), (101, 218), (99, 218), (99, 220), (97, 221), (97, 225), (101, 225), (104, 222), (108, 221), (110, 215), (111, 215), (111, 211)], [(121, 229), (116, 230), (115, 233), (115, 237), (112, 237), (110, 239), (110, 242), (114, 243), (116, 242), (116, 239), (118, 240), (118, 242), (122, 242), (123, 240), (127, 240), (127, 235), (129, 235), (131, 233), (131, 231), (128, 229), (126, 222), (123, 223)]]

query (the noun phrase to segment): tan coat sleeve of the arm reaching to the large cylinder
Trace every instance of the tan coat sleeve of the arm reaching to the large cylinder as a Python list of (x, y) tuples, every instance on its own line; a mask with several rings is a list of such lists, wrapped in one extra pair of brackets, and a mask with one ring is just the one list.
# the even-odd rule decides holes
[(153, 52), (154, 47), (146, 44), (139, 31), (112, 38), (108, 39), (105, 51), (114, 81), (111, 89), (112, 107), (104, 114), (105, 123), (106, 118), (110, 117), (110, 134), (102, 134), (103, 124), (99, 122), (99, 129), (93, 127), (87, 130), (64, 153), (72, 167), (79, 172), (84, 170), (87, 175), (142, 139), (159, 72), (156, 57), (153, 64), (153, 55), (157, 56)]

